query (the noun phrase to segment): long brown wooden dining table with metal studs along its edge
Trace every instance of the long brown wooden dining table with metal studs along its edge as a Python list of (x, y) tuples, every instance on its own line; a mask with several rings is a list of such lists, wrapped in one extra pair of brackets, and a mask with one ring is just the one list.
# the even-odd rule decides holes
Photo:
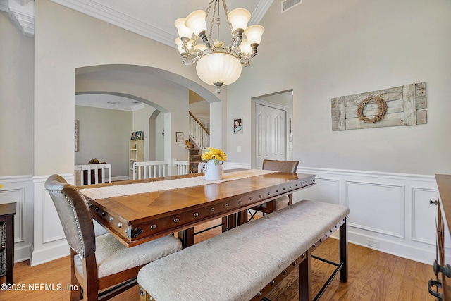
[[(224, 172), (226, 175), (234, 171), (239, 170)], [(272, 172), (237, 180), (206, 181), (192, 187), (179, 188), (174, 185), (165, 190), (97, 199), (87, 193), (90, 188), (111, 190), (111, 186), (120, 189), (130, 187), (127, 186), (130, 184), (150, 182), (163, 187), (168, 183), (177, 183), (168, 182), (170, 180), (199, 176), (203, 173), (86, 185), (79, 189), (87, 199), (93, 218), (124, 245), (133, 247), (178, 233), (183, 247), (188, 247), (194, 244), (194, 226), (222, 218), (227, 223), (224, 228), (233, 228), (237, 226), (238, 212), (244, 213), (256, 205), (316, 185), (315, 175)]]

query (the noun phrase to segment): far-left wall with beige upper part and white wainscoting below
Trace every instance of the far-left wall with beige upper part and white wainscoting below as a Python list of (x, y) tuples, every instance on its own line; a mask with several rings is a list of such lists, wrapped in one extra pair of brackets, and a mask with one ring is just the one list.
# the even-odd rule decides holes
[(33, 242), (33, 39), (0, 11), (0, 204), (16, 202), (14, 259)]

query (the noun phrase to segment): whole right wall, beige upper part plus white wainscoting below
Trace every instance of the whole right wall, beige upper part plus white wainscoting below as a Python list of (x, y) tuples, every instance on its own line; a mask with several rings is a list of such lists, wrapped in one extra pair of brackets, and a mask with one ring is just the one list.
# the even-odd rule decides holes
[[(431, 264), (433, 175), (451, 173), (450, 16), (445, 0), (307, 0), (283, 14), (274, 1), (258, 55), (228, 89), (227, 128), (252, 122), (253, 97), (292, 89), (293, 159), (317, 176), (295, 201), (347, 205), (350, 242)], [(416, 82), (426, 125), (332, 131), (330, 99)], [(251, 168), (251, 131), (227, 137), (227, 168)]]

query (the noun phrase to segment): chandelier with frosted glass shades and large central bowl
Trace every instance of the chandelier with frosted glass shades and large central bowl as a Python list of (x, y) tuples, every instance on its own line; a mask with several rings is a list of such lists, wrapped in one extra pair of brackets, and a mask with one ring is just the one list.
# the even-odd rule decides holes
[[(185, 66), (196, 64), (196, 72), (199, 78), (208, 85), (216, 86), (216, 92), (221, 92), (221, 87), (235, 82), (240, 75), (242, 66), (249, 66), (250, 59), (257, 55), (257, 47), (261, 42), (264, 27), (252, 25), (247, 27), (251, 13), (245, 8), (236, 8), (228, 12), (225, 0), (222, 0), (226, 20), (230, 27), (233, 42), (227, 47), (219, 40), (219, 1), (211, 0), (205, 11), (193, 11), (186, 18), (175, 20), (179, 37), (175, 39), (178, 51), (182, 56)], [(214, 4), (214, 6), (213, 6)], [(207, 37), (206, 18), (211, 7), (211, 26)], [(218, 37), (211, 42), (216, 15)], [(203, 44), (197, 44), (201, 39)]]

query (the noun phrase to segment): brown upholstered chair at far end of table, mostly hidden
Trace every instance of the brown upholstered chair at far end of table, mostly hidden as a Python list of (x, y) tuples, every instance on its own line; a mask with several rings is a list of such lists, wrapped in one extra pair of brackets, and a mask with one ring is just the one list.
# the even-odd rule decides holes
[[(295, 173), (297, 170), (297, 166), (299, 165), (299, 161), (281, 161), (281, 160), (263, 160), (263, 164), (261, 165), (261, 169), (265, 169), (268, 171), (281, 171), (283, 173)], [(293, 202), (293, 195), (290, 193), (289, 195), (283, 195), (282, 197), (278, 197), (277, 199), (273, 199), (272, 201), (266, 202), (264, 204), (260, 204), (259, 206), (254, 206), (249, 211), (250, 218), (249, 220), (254, 219), (255, 214), (258, 212), (262, 212), (263, 214), (268, 214), (278, 209), (282, 209), (291, 205)]]

